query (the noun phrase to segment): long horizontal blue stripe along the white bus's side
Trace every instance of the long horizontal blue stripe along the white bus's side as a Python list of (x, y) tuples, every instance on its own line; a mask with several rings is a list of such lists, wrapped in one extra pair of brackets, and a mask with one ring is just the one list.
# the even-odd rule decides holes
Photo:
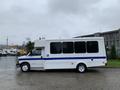
[(106, 59), (106, 57), (62, 57), (62, 58), (21, 58), (19, 60), (73, 60), (73, 59)]

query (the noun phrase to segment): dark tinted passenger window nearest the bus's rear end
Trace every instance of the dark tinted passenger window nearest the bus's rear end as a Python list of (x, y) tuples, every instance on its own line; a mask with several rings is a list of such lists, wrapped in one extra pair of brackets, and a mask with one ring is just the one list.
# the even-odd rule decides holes
[(87, 52), (88, 53), (97, 53), (98, 52), (98, 42), (97, 41), (88, 41), (87, 42)]

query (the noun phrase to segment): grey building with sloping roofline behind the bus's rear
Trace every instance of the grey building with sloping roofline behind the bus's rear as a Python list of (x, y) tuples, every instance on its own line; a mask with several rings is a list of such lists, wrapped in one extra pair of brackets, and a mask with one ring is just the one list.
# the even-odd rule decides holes
[(108, 31), (108, 32), (99, 32), (89, 35), (77, 36), (75, 38), (79, 38), (79, 37), (104, 37), (105, 46), (108, 50), (108, 53), (111, 47), (114, 45), (116, 48), (117, 56), (120, 57), (120, 29), (114, 31)]

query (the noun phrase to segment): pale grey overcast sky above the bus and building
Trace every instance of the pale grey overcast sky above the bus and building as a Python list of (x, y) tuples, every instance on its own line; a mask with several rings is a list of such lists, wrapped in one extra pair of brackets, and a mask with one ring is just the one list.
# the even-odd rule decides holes
[(120, 0), (0, 0), (0, 44), (120, 28)]

